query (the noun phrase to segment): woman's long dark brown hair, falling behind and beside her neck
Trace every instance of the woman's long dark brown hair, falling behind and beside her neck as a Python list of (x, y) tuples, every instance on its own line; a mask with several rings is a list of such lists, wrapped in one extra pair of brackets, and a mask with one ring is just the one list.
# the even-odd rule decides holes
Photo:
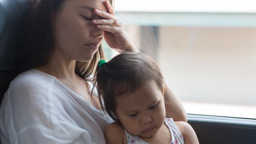
[[(27, 0), (26, 7), (21, 13), (23, 27), (19, 28), (20, 34), (17, 42), (15, 68), (10, 72), (11, 76), (4, 81), (1, 95), (8, 89), (10, 82), (21, 72), (25, 72), (34, 67), (47, 64), (54, 52), (53, 30), (51, 22), (52, 11), (59, 11), (66, 0)], [(109, 0), (114, 7), (114, 0)], [(21, 15), (21, 14), (20, 14)], [(89, 78), (96, 69), (100, 58), (105, 57), (102, 46), (94, 54), (90, 62), (75, 63), (75, 73), (81, 78), (91, 81)]]

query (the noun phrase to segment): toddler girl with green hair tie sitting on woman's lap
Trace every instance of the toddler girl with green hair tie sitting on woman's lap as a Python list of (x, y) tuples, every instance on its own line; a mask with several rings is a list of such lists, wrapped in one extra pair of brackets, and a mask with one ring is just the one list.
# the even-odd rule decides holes
[(100, 60), (95, 79), (101, 107), (115, 121), (105, 130), (108, 144), (199, 143), (188, 123), (165, 117), (163, 76), (148, 55)]

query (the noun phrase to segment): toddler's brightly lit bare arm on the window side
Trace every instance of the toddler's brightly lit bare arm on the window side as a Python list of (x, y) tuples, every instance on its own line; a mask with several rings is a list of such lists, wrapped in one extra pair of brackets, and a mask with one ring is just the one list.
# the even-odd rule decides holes
[(181, 131), (185, 144), (199, 144), (197, 135), (190, 124), (183, 121), (175, 121), (174, 123)]

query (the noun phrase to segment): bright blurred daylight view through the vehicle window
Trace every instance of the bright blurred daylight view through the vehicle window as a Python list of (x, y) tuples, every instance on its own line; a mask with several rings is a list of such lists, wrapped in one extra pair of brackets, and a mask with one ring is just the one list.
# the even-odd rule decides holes
[[(189, 114), (256, 118), (255, 0), (116, 0)], [(104, 47), (107, 45), (105, 44)], [(110, 59), (117, 53), (105, 49)]]

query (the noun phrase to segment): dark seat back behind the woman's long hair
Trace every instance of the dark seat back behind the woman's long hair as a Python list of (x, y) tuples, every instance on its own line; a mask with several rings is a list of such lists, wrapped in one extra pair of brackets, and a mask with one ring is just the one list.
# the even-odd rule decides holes
[(13, 75), (25, 22), (26, 0), (0, 0), (0, 103)]

